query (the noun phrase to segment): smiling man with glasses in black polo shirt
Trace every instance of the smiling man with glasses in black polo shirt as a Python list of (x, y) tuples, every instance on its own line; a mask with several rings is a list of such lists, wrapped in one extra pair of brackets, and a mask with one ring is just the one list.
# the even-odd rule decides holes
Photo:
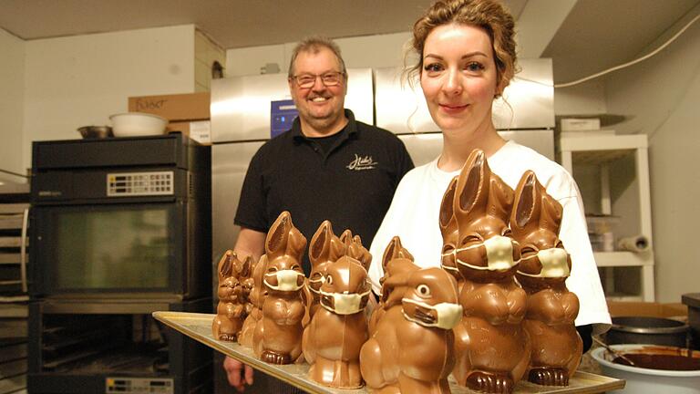
[[(252, 158), (234, 223), (239, 256), (264, 254), (268, 229), (283, 211), (311, 240), (326, 219), (336, 232), (350, 229), (372, 243), (396, 190), (413, 161), (395, 135), (355, 120), (344, 108), (347, 72), (340, 48), (311, 37), (293, 50), (289, 90), (299, 116), (291, 130), (267, 141)], [(304, 272), (311, 269), (304, 255)], [(226, 358), (229, 382), (242, 391), (252, 369)]]

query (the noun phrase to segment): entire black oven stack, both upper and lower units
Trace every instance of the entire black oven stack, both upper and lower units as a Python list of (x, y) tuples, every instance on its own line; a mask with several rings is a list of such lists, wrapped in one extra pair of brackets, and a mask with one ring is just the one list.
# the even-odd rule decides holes
[(211, 151), (180, 133), (36, 141), (32, 394), (211, 392), (211, 349), (155, 311), (211, 313)]

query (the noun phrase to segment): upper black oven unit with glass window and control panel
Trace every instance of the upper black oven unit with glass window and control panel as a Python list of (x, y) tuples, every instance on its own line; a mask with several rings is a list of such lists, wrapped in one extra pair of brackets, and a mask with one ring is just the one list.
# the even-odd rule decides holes
[(211, 296), (211, 153), (180, 133), (33, 144), (30, 295)]

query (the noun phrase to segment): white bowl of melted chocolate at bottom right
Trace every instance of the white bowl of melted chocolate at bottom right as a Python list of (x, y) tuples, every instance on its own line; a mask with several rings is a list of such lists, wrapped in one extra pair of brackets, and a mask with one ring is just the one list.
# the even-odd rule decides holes
[[(621, 353), (641, 352), (644, 348), (677, 348), (657, 345), (612, 345)], [(624, 389), (613, 392), (649, 394), (700, 393), (700, 370), (680, 371), (624, 366), (613, 363), (614, 355), (604, 347), (592, 349), (591, 356), (601, 365), (603, 375), (626, 380)]]

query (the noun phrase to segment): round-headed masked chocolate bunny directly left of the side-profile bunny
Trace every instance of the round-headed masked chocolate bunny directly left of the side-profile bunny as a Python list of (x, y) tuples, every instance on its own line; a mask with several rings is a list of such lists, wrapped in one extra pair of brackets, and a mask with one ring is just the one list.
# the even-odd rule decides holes
[(319, 291), (323, 308), (304, 329), (309, 378), (334, 388), (359, 388), (360, 348), (368, 337), (364, 311), (372, 291), (367, 271), (345, 255), (326, 266)]

